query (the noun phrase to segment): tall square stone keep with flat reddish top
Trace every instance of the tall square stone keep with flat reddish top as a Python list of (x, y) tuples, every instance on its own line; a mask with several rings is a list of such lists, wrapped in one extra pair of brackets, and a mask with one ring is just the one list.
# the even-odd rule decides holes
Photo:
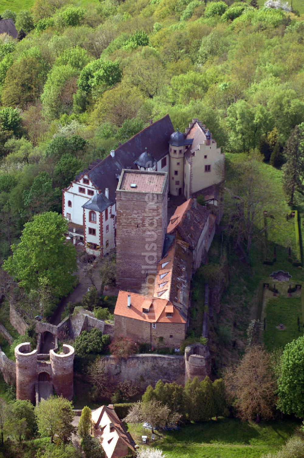
[(166, 172), (123, 169), (116, 191), (117, 285), (139, 292), (156, 272), (167, 227)]

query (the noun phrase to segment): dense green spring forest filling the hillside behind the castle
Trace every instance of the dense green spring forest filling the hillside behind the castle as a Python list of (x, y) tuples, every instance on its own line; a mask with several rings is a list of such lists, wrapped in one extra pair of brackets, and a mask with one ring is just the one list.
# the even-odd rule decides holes
[(304, 121), (304, 16), (281, 4), (35, 0), (0, 11), (18, 31), (0, 35), (0, 259), (35, 213), (60, 212), (76, 172), (166, 113), (181, 130), (198, 117), (224, 152), (256, 149), (280, 166)]

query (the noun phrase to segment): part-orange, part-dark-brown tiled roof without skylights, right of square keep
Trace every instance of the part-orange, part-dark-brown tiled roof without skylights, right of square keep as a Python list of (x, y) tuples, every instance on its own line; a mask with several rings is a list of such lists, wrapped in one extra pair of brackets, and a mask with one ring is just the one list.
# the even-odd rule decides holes
[(182, 240), (195, 247), (210, 213), (206, 207), (198, 204), (196, 199), (189, 199), (176, 208), (168, 224), (167, 233), (172, 234), (177, 230)]

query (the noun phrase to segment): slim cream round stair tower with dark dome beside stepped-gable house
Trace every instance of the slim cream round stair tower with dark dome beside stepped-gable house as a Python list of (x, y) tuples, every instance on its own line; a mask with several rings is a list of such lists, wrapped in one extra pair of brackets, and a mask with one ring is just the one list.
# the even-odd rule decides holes
[(185, 137), (178, 129), (169, 141), (170, 172), (169, 192), (171, 196), (184, 194), (184, 144)]

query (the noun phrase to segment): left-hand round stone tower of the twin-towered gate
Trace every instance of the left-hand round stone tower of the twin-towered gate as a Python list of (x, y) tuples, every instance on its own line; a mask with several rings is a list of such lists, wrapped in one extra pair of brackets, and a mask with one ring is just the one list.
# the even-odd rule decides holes
[(31, 352), (31, 344), (25, 342), (15, 348), (16, 398), (36, 403), (37, 349)]

